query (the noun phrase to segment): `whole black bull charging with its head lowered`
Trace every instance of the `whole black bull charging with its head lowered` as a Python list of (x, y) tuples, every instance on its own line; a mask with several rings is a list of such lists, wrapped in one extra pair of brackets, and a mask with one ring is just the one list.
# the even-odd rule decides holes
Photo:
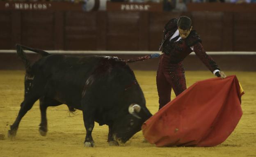
[[(23, 49), (42, 55), (31, 64)], [(110, 145), (125, 143), (137, 133), (151, 113), (133, 71), (123, 60), (107, 56), (50, 55), (46, 51), (17, 44), (25, 67), (25, 96), (18, 116), (10, 126), (14, 137), (22, 117), (39, 99), (41, 135), (47, 133), (46, 108), (66, 104), (70, 111), (83, 113), (85, 146), (93, 147), (94, 121), (109, 127)]]

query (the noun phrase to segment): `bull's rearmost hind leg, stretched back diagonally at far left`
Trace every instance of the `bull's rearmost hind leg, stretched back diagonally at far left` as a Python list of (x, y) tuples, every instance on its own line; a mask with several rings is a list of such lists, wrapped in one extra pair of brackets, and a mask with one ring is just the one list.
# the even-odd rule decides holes
[(8, 137), (15, 137), (16, 132), (18, 130), (18, 126), (21, 122), (22, 117), (29, 111), (33, 104), (39, 99), (36, 95), (25, 96), (24, 101), (21, 103), (21, 109), (16, 117), (15, 122), (10, 126), (10, 130), (8, 130)]

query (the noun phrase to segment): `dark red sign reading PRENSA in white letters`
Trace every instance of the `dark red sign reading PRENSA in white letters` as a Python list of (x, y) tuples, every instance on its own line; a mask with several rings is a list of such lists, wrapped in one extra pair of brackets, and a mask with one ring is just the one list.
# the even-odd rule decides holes
[(107, 1), (107, 11), (162, 11), (162, 3), (129, 3)]

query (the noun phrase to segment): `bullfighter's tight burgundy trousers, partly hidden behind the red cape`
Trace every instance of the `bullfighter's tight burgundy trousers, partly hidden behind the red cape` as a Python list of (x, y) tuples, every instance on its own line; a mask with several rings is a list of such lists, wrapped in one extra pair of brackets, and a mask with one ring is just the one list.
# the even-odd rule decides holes
[(176, 96), (187, 89), (183, 62), (171, 63), (168, 55), (161, 55), (156, 85), (160, 109), (171, 101), (171, 88)]

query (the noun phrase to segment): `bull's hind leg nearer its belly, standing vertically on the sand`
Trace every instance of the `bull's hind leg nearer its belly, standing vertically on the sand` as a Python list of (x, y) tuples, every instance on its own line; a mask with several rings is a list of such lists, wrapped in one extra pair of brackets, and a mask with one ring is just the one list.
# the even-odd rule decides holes
[(48, 97), (41, 97), (39, 99), (40, 101), (40, 111), (41, 111), (41, 123), (39, 124), (39, 133), (42, 136), (46, 136), (46, 133), (48, 131), (47, 129), (47, 119), (46, 119), (46, 109), (48, 106), (59, 106), (62, 103), (58, 102), (57, 100), (53, 100)]

